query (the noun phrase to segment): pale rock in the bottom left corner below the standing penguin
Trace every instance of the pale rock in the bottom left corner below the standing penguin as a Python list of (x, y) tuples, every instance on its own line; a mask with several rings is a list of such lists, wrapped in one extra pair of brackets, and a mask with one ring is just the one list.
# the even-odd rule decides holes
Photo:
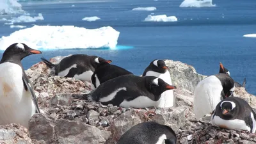
[(32, 144), (28, 129), (19, 124), (0, 125), (0, 143)]

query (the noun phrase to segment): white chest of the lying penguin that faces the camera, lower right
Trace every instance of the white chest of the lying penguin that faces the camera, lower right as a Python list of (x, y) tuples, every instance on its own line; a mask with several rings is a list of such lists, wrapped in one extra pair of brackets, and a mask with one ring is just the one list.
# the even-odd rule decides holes
[(224, 129), (241, 129), (251, 131), (251, 128), (246, 125), (244, 120), (234, 119), (234, 120), (224, 120), (220, 116), (213, 116), (212, 124)]

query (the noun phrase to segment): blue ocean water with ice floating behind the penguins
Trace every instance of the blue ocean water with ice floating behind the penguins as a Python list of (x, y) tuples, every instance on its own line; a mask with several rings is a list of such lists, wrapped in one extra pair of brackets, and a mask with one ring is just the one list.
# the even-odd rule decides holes
[[(72, 25), (84, 28), (111, 26), (120, 31), (118, 49), (55, 49), (32, 55), (22, 63), (27, 69), (40, 61), (68, 54), (89, 54), (113, 60), (113, 64), (140, 75), (150, 61), (170, 59), (188, 63), (204, 75), (217, 74), (219, 62), (230, 70), (239, 83), (247, 78), (246, 89), (256, 95), (256, 38), (243, 35), (256, 33), (256, 1), (216, 0), (216, 7), (180, 8), (181, 0), (118, 1), (22, 1), (22, 9), (31, 15), (42, 13), (44, 20), (20, 23), (27, 28), (36, 25)], [(75, 6), (72, 7), (72, 4)], [(134, 12), (132, 8), (155, 6), (154, 12)], [(143, 22), (147, 15), (175, 15), (177, 22)], [(95, 22), (83, 17), (100, 17)], [(1, 17), (0, 17), (1, 19)], [(0, 36), (10, 29), (0, 21)], [(40, 35), (40, 33), (38, 33)], [(72, 48), (72, 47), (70, 47)], [(3, 51), (0, 51), (2, 55)]]

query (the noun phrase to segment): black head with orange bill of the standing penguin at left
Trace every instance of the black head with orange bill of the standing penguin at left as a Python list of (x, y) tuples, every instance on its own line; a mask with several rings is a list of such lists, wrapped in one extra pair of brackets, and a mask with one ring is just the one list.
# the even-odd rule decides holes
[(10, 45), (3, 53), (3, 60), (12, 60), (15, 59), (17, 60), (22, 60), (26, 56), (29, 56), (31, 54), (41, 54), (41, 51), (31, 49), (28, 47), (28, 45), (23, 44), (23, 43), (15, 43)]

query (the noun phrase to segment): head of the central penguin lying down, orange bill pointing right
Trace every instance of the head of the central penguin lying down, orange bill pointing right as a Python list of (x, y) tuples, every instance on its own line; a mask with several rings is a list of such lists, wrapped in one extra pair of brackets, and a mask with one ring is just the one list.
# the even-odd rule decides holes
[(156, 96), (160, 96), (166, 90), (176, 89), (176, 86), (165, 83), (163, 79), (154, 76), (146, 76), (146, 79), (148, 91)]

